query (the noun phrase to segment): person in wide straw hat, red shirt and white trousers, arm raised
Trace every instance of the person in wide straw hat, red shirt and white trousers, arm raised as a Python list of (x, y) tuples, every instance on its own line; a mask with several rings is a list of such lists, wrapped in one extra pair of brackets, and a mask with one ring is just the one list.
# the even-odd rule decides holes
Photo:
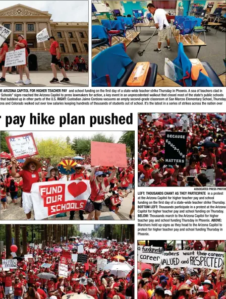
[(23, 208), (27, 219), (31, 219), (31, 209), (33, 207), (31, 198), (31, 187), (33, 183), (40, 182), (38, 169), (41, 167), (41, 163), (33, 158), (28, 158), (25, 160), (22, 167), (23, 170), (16, 172), (16, 158), (12, 157), (12, 169), (11, 174), (13, 177), (23, 178)]

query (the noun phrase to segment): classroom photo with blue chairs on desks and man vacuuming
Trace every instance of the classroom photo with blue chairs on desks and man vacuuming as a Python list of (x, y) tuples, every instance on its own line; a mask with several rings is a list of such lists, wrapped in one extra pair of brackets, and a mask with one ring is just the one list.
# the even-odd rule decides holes
[(225, 0), (92, 0), (92, 86), (226, 86), (225, 24)]

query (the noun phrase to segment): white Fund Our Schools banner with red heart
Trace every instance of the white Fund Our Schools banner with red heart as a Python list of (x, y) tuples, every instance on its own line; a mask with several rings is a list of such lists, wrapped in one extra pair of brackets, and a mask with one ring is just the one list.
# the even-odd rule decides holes
[(91, 193), (90, 183), (80, 181), (52, 181), (32, 184), (31, 197), (36, 220), (83, 210)]

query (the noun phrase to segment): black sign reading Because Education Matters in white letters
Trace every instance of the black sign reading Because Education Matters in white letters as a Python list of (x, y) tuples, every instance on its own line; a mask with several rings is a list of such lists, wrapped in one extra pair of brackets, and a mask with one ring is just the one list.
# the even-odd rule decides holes
[(165, 164), (185, 165), (187, 133), (165, 132)]

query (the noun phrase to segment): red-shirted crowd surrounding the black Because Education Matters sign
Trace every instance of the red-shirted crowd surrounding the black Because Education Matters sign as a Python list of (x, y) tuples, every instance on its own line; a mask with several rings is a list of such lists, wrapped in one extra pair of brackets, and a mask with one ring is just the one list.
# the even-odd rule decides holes
[[(167, 131), (187, 132), (183, 166), (165, 163)], [(139, 113), (138, 186), (202, 187), (214, 180), (215, 186), (226, 186), (225, 113)]]

